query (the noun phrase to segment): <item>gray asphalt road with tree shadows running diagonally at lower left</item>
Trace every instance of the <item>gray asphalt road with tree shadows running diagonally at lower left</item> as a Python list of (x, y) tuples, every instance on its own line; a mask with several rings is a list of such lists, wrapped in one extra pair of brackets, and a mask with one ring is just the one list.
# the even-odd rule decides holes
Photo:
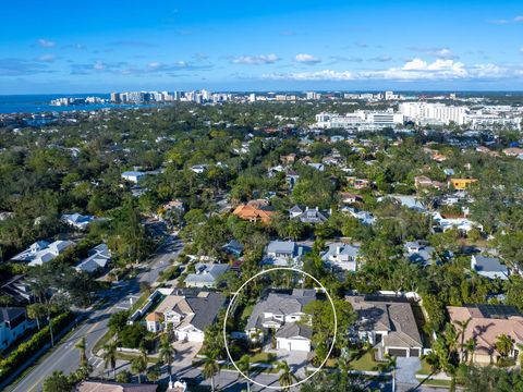
[(153, 284), (159, 273), (169, 267), (169, 260), (175, 257), (183, 248), (180, 240), (170, 235), (163, 244), (156, 250), (147, 262), (146, 269), (141, 272), (136, 279), (124, 281), (115, 287), (102, 293), (104, 305), (95, 310), (86, 311), (86, 321), (80, 324), (72, 335), (62, 342), (56, 350), (37, 365), (22, 381), (14, 388), (10, 387), (8, 391), (14, 392), (35, 392), (41, 391), (45, 378), (54, 370), (61, 370), (64, 373), (71, 373), (80, 365), (80, 353), (74, 345), (85, 336), (87, 343), (87, 358), (89, 363), (97, 367), (101, 359), (93, 355), (92, 350), (95, 343), (106, 333), (107, 323), (112, 313), (129, 307), (129, 298), (139, 294), (139, 283)]

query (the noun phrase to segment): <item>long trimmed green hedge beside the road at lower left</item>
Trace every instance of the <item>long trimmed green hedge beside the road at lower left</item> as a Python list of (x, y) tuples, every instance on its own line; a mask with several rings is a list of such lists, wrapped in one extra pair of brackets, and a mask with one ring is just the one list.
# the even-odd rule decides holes
[[(73, 320), (74, 315), (71, 311), (65, 311), (54, 317), (51, 321), (54, 336)], [(51, 334), (49, 332), (49, 326), (46, 326), (36, 332), (29, 340), (21, 343), (7, 358), (0, 360), (0, 381), (3, 381), (16, 368), (25, 365), (26, 362), (38, 352), (38, 350), (44, 347), (50, 341)]]

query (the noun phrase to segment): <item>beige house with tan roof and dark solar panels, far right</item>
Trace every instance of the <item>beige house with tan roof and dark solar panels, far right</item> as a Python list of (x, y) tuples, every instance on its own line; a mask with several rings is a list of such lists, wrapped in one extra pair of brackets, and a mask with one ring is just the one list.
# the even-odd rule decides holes
[(458, 332), (461, 331), (460, 321), (471, 320), (465, 329), (464, 342), (474, 340), (475, 350), (472, 360), (476, 365), (490, 365), (498, 362), (501, 355), (496, 350), (496, 341), (502, 334), (510, 336), (514, 343), (509, 357), (518, 359), (520, 356), (518, 344), (523, 343), (523, 317), (512, 306), (447, 306), (447, 310)]

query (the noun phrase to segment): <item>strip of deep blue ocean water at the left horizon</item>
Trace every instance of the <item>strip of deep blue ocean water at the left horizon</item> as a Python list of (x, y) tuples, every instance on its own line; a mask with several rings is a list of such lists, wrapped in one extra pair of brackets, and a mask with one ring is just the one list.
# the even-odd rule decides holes
[(49, 105), (51, 99), (72, 97), (100, 97), (109, 99), (109, 94), (49, 94), (49, 95), (0, 95), (0, 113), (39, 113), (64, 112), (74, 110), (96, 110), (102, 108), (137, 108), (139, 105), (71, 105), (56, 107)]

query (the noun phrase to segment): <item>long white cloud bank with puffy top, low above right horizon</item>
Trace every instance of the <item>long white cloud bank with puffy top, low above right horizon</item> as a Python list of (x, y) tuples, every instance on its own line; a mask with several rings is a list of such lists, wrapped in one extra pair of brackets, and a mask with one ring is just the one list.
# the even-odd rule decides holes
[(416, 58), (403, 66), (385, 70), (291, 72), (263, 75), (264, 78), (292, 81), (354, 81), (354, 79), (387, 79), (387, 81), (449, 81), (449, 79), (482, 79), (519, 77), (523, 69), (507, 68), (496, 64), (474, 64), (466, 66), (451, 59), (437, 59), (427, 62)]

